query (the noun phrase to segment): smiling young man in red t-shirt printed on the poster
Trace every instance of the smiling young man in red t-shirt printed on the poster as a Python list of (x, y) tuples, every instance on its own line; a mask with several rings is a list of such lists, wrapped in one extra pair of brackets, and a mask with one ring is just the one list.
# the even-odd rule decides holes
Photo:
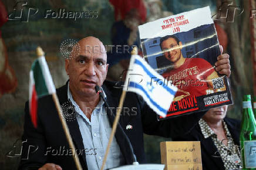
[(184, 58), (181, 49), (182, 43), (174, 35), (167, 35), (160, 39), (160, 47), (164, 57), (171, 62), (170, 69), (162, 74), (167, 80), (171, 80), (178, 91), (174, 101), (182, 98), (194, 96), (203, 96), (221, 89), (214, 89), (212, 79), (220, 78), (206, 60), (201, 58)]

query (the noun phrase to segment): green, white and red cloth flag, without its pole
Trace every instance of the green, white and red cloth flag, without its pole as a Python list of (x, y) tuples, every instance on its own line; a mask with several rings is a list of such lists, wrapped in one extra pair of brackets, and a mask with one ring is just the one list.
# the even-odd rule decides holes
[(38, 98), (56, 93), (45, 56), (33, 62), (29, 76), (29, 112), (33, 125), (37, 127)]

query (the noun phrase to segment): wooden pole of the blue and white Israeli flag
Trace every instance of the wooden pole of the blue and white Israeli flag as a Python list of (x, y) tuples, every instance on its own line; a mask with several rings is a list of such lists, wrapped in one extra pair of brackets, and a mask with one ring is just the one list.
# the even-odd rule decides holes
[[(133, 47), (131, 55), (137, 55), (137, 47)], [(111, 132), (111, 135), (110, 135), (110, 138), (109, 138), (109, 143), (107, 144), (107, 149), (106, 149), (104, 159), (103, 159), (103, 162), (102, 162), (102, 168), (100, 168), (100, 170), (103, 170), (104, 165), (106, 164), (107, 154), (109, 154), (110, 145), (113, 141), (114, 133), (116, 132), (116, 127), (117, 127), (117, 124), (118, 124), (118, 121), (119, 121), (119, 118), (120, 118), (120, 114), (121, 114), (121, 111), (122, 111), (122, 108), (123, 108), (123, 102), (124, 102), (125, 96), (126, 96), (126, 91), (123, 90), (122, 95), (120, 97), (120, 102), (119, 102), (118, 109), (116, 110), (116, 117), (114, 118), (114, 123), (113, 123), (113, 127), (112, 127), (112, 132)]]

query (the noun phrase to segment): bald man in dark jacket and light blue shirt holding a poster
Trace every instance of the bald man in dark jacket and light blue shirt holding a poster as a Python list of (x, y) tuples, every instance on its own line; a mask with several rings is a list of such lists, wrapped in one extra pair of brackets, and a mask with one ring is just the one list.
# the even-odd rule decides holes
[[(79, 45), (80, 53), (72, 54), (74, 57), (66, 60), (65, 69), (69, 81), (57, 89), (57, 95), (62, 106), (71, 103), (75, 109), (76, 117), (69, 120), (66, 118), (66, 121), (83, 169), (99, 169), (112, 130), (115, 114), (112, 108), (117, 108), (122, 89), (116, 89), (116, 83), (105, 81), (108, 64), (102, 42), (87, 37), (80, 40)], [(219, 73), (230, 76), (228, 57), (226, 54), (218, 56), (216, 66)], [(102, 86), (109, 108), (95, 93), (96, 84)], [(25, 142), (19, 169), (75, 169), (52, 98), (46, 96), (38, 101), (38, 128), (33, 127), (28, 108), (26, 103), (22, 137)], [(157, 121), (156, 114), (142, 98), (128, 92), (105, 168), (132, 164), (133, 154), (138, 162), (145, 163), (143, 132), (163, 137), (185, 134), (203, 114)], [(129, 149), (129, 141), (124, 133), (134, 152)], [(36, 149), (30, 149), (31, 146)]]

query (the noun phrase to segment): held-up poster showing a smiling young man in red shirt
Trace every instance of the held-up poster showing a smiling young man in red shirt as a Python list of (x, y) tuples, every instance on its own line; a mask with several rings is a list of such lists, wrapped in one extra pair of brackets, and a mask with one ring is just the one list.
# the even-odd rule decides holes
[[(144, 59), (178, 87), (166, 118), (233, 104), (227, 76), (215, 62), (220, 46), (209, 6), (139, 26)], [(160, 120), (163, 117), (158, 117)]]

